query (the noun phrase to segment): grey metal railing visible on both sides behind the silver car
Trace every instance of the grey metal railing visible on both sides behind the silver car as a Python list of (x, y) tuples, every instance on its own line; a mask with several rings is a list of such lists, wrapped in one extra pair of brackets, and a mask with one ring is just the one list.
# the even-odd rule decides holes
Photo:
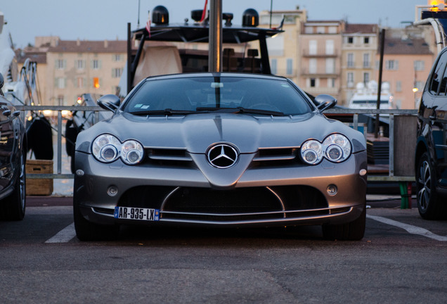
[[(16, 106), (17, 110), (39, 112), (43, 110), (52, 110), (58, 113), (57, 126), (53, 128), (57, 132), (57, 148), (56, 148), (56, 173), (54, 174), (28, 174), (29, 179), (73, 179), (73, 174), (62, 174), (62, 138), (63, 134), (63, 117), (62, 111), (92, 111), (95, 113), (95, 122), (99, 120), (99, 111), (103, 108), (99, 106)], [(325, 114), (349, 114), (352, 115), (352, 127), (358, 129), (358, 115), (388, 115), (389, 118), (389, 172), (388, 175), (368, 175), (368, 182), (414, 182), (414, 176), (396, 176), (394, 175), (394, 118), (399, 115), (417, 115), (417, 110), (376, 110), (376, 109), (347, 109), (347, 108), (332, 108), (326, 110)], [(23, 117), (24, 118), (24, 117)]]

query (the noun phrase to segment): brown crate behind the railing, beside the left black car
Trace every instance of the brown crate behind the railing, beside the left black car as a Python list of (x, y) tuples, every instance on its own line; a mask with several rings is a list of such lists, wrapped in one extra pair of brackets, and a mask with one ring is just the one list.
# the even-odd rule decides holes
[[(53, 174), (53, 160), (27, 160), (26, 173)], [(53, 194), (53, 179), (27, 179), (27, 196)]]

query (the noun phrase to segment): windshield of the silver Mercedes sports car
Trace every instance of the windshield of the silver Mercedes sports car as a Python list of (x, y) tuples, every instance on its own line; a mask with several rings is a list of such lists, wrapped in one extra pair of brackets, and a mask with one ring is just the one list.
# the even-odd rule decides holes
[(148, 80), (124, 111), (135, 115), (210, 111), (259, 115), (300, 115), (311, 106), (287, 80), (254, 77), (184, 77)]

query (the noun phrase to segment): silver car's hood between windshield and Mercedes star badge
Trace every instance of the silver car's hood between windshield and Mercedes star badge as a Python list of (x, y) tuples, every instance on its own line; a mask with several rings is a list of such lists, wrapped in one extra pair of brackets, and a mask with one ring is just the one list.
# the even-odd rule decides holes
[(89, 153), (99, 134), (113, 134), (120, 141), (136, 139), (146, 148), (179, 148), (189, 153), (206, 153), (209, 146), (229, 143), (240, 153), (259, 148), (299, 147), (307, 139), (323, 141), (339, 132), (352, 139), (353, 152), (365, 149), (363, 134), (319, 113), (294, 116), (200, 113), (192, 115), (136, 116), (117, 113), (79, 133), (77, 150)]

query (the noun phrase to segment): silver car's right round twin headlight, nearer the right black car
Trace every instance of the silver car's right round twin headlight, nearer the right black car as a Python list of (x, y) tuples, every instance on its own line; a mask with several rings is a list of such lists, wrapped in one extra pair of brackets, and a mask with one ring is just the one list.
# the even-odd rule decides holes
[(311, 139), (301, 147), (301, 157), (309, 165), (320, 163), (327, 158), (333, 163), (341, 163), (351, 155), (351, 142), (342, 134), (332, 134), (325, 138), (323, 144)]

